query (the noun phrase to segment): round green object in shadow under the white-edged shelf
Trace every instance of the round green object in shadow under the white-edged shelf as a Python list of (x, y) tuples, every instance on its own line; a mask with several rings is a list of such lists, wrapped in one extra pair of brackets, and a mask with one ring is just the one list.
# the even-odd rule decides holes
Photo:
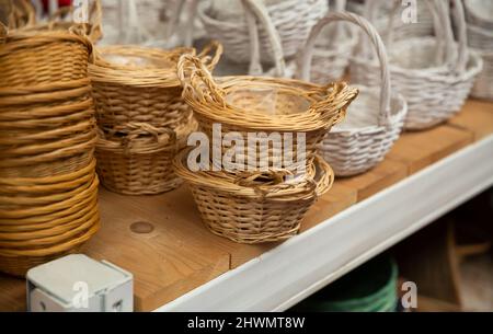
[(329, 285), (299, 304), (312, 312), (392, 312), (398, 303), (398, 267), (379, 256)]

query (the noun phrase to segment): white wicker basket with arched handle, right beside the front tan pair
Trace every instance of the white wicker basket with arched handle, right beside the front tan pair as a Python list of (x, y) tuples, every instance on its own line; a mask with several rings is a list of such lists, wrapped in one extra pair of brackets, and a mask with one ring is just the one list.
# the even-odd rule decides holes
[[(375, 88), (362, 87), (359, 97), (349, 106), (347, 118), (326, 134), (320, 154), (332, 165), (335, 175), (351, 176), (368, 171), (383, 160), (399, 138), (408, 112), (402, 96), (391, 93), (386, 47), (376, 28), (364, 18), (352, 13), (329, 13), (311, 32), (302, 55), (302, 78), (309, 80), (309, 64), (318, 34), (330, 23), (351, 22), (359, 26), (377, 49), (382, 87), (380, 101)], [(366, 59), (352, 62), (364, 65)]]

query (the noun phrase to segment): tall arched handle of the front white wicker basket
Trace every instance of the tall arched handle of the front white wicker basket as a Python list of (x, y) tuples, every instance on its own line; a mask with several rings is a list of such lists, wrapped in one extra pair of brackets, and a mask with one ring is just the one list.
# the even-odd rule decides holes
[[(333, 22), (346, 21), (359, 26), (370, 38), (372, 45), (377, 49), (377, 56), (380, 61), (381, 67), (381, 90), (380, 90), (380, 116), (379, 124), (387, 125), (390, 120), (390, 71), (389, 71), (389, 60), (387, 57), (387, 50), (381, 41), (380, 35), (377, 33), (376, 28), (368, 22), (365, 18), (353, 13), (329, 13), (320, 20), (316, 26), (311, 30), (310, 36), (308, 37), (307, 44), (305, 45), (305, 51), (301, 54), (301, 71), (300, 77), (305, 81), (310, 81), (310, 64), (313, 58), (313, 48), (316, 41), (321, 33), (322, 28)], [(356, 94), (357, 95), (357, 94)], [(351, 97), (351, 96), (348, 96)], [(353, 99), (355, 99), (354, 96)], [(351, 100), (352, 101), (352, 100)], [(349, 101), (349, 102), (351, 102)]]

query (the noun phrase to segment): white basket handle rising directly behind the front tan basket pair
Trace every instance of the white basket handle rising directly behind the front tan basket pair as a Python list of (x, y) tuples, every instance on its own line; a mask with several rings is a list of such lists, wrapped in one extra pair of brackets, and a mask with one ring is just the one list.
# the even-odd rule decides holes
[(286, 64), (284, 60), (283, 44), (280, 42), (279, 34), (268, 15), (267, 8), (261, 0), (242, 0), (242, 4), (245, 11), (246, 25), (249, 27), (249, 35), (251, 41), (251, 61), (250, 61), (250, 74), (261, 74), (262, 65), (260, 56), (260, 34), (255, 22), (255, 18), (264, 26), (267, 32), (268, 41), (272, 46), (274, 56), (274, 64), (276, 66), (276, 74), (278, 77), (285, 77)]

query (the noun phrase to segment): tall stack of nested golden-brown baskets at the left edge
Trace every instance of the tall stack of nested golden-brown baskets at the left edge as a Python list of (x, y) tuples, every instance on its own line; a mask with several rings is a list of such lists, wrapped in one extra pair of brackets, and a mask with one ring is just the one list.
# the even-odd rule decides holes
[(99, 229), (91, 43), (0, 30), (0, 272), (77, 252)]

